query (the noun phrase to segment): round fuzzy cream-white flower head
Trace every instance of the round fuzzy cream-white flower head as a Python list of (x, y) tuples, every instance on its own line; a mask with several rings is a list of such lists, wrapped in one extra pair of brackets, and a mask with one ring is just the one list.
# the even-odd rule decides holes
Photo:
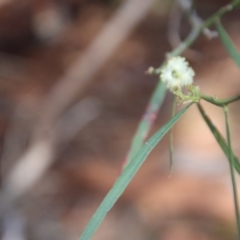
[(162, 68), (160, 78), (170, 91), (192, 85), (195, 73), (184, 57), (173, 57)]

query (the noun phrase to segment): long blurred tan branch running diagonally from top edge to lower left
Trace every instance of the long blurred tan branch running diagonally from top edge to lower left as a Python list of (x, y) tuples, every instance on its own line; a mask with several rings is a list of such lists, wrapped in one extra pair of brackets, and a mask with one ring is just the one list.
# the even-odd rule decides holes
[[(4, 203), (9, 204), (25, 194), (49, 168), (55, 156), (57, 132), (61, 132), (59, 124), (60, 126), (63, 124), (62, 120), (59, 122), (61, 115), (91, 83), (90, 79), (92, 80), (94, 74), (128, 37), (133, 28), (146, 16), (152, 2), (153, 0), (126, 0), (89, 48), (53, 87), (39, 112), (40, 123), (36, 127), (34, 141), (3, 182), (2, 208)], [(78, 109), (80, 119), (86, 117), (87, 113), (88, 109), (83, 108), (81, 111)], [(90, 114), (85, 119), (85, 124), (95, 117), (96, 114)], [(81, 128), (84, 124), (75, 122), (74, 125)], [(68, 122), (68, 126), (71, 126), (71, 122)], [(69, 139), (74, 133), (76, 129), (70, 131)]]

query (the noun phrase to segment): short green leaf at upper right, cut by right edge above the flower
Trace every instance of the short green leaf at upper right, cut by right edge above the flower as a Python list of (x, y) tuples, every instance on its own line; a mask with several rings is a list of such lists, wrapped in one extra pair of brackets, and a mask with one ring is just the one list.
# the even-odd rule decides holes
[(229, 55), (233, 59), (233, 61), (237, 64), (237, 66), (240, 68), (240, 54), (238, 53), (238, 49), (236, 48), (235, 44), (229, 37), (228, 33), (222, 26), (220, 20), (217, 21), (217, 30), (219, 33), (219, 37), (225, 46), (226, 50), (228, 51)]

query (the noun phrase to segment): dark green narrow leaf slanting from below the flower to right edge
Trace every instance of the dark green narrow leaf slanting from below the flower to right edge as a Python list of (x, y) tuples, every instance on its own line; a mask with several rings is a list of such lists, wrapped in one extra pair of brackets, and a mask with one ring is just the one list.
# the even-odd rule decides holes
[[(224, 140), (223, 136), (218, 131), (218, 129), (214, 126), (211, 119), (206, 115), (206, 113), (205, 113), (203, 107), (201, 106), (201, 104), (198, 104), (198, 109), (199, 109), (203, 119), (207, 123), (209, 129), (211, 130), (213, 136), (217, 140), (219, 146), (222, 148), (222, 150), (225, 153), (227, 159), (229, 160), (230, 159), (230, 151), (229, 151), (228, 145), (227, 145), (226, 141)], [(238, 158), (234, 154), (233, 154), (233, 160), (234, 160), (234, 167), (235, 167), (236, 171), (238, 172), (238, 174), (240, 174), (240, 163), (239, 163)]]

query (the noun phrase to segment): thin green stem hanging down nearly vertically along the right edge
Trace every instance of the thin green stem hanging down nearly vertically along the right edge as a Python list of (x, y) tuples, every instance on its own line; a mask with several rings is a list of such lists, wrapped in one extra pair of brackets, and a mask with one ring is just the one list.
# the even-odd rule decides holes
[(237, 220), (238, 239), (240, 239), (240, 217), (239, 217), (239, 207), (238, 207), (238, 194), (237, 194), (237, 186), (236, 186), (236, 180), (234, 175), (234, 156), (233, 156), (233, 151), (231, 146), (228, 107), (225, 105), (223, 106), (223, 109), (224, 109), (224, 115), (225, 115), (225, 121), (226, 121), (227, 142), (228, 142), (228, 149), (229, 149), (229, 163), (230, 163), (230, 172), (231, 172), (231, 180), (232, 180), (232, 187), (233, 187), (235, 214), (236, 214), (236, 220)]

